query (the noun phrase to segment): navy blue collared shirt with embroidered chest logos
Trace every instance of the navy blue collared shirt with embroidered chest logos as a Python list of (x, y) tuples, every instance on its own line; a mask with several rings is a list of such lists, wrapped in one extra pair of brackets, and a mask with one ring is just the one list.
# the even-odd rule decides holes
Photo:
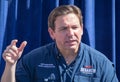
[(55, 43), (26, 54), (17, 64), (16, 82), (118, 82), (112, 63), (100, 52), (80, 44), (69, 66)]

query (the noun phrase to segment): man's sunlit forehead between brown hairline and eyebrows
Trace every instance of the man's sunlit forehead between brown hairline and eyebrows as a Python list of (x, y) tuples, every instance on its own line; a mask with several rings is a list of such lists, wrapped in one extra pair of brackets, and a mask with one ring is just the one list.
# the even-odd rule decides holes
[(55, 21), (55, 25), (56, 24), (69, 24), (69, 23), (71, 24), (80, 23), (78, 16), (75, 15), (74, 13), (69, 13), (67, 15), (58, 16)]

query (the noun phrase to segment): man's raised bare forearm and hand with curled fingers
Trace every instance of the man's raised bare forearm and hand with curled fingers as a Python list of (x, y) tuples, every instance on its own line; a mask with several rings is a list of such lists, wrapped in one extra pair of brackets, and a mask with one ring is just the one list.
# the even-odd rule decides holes
[(16, 82), (15, 69), (18, 59), (26, 46), (27, 42), (24, 41), (19, 48), (16, 47), (17, 40), (13, 40), (3, 53), (3, 59), (6, 62), (5, 70), (3, 72), (1, 82)]

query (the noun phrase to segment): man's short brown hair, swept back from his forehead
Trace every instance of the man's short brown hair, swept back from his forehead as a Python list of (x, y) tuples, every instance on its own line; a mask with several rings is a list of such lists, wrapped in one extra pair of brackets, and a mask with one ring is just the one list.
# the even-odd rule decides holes
[(48, 27), (52, 28), (55, 30), (55, 21), (58, 16), (61, 15), (67, 15), (69, 13), (74, 13), (80, 20), (80, 24), (83, 23), (82, 20), (82, 12), (80, 8), (78, 8), (75, 5), (61, 5), (59, 7), (56, 7), (53, 9), (53, 11), (50, 13), (48, 17)]

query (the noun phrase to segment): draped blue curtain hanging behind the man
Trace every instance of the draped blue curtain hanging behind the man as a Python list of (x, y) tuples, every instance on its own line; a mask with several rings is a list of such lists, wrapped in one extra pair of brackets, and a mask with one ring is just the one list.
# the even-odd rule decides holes
[(120, 0), (0, 0), (0, 77), (5, 62), (2, 52), (11, 40), (18, 46), (28, 42), (23, 53), (52, 42), (47, 18), (59, 5), (72, 4), (82, 10), (82, 41), (104, 53), (115, 65), (120, 80)]

